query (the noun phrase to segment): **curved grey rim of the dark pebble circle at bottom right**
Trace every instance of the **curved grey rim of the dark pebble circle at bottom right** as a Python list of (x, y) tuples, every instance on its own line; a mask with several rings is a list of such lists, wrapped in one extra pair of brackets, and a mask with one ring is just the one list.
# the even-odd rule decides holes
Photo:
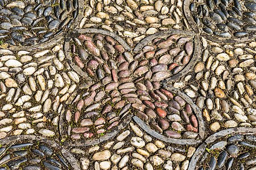
[(214, 133), (213, 135), (210, 135), (204, 143), (202, 143), (194, 153), (194, 155), (191, 158), (191, 161), (189, 162), (189, 170), (193, 170), (196, 168), (196, 163), (199, 160), (200, 156), (203, 155), (205, 148), (209, 143), (213, 143), (219, 138), (225, 137), (226, 135), (229, 134), (256, 134), (256, 128), (245, 128), (245, 127), (240, 127), (240, 128), (231, 128), (231, 129), (225, 129), (218, 131), (217, 133)]

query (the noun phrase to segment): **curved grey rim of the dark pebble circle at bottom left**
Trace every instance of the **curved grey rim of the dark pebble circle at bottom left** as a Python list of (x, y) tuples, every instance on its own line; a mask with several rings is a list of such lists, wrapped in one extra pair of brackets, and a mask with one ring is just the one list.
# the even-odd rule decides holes
[(62, 148), (60, 145), (58, 145), (56, 142), (51, 141), (47, 138), (44, 137), (40, 137), (40, 136), (35, 136), (35, 135), (16, 135), (16, 136), (10, 136), (10, 137), (6, 137), (0, 140), (0, 144), (1, 145), (5, 145), (5, 144), (10, 144), (11, 142), (14, 141), (20, 141), (20, 140), (24, 140), (27, 139), (28, 141), (39, 141), (39, 142), (43, 142), (43, 143), (47, 143), (47, 145), (54, 147), (57, 150), (61, 151), (61, 154), (63, 154), (63, 156), (65, 157), (65, 159), (68, 160), (68, 162), (71, 164), (71, 167), (73, 169), (80, 169), (80, 164), (77, 162), (77, 160), (73, 157), (72, 154), (70, 154), (67, 150), (65, 150), (64, 148)]

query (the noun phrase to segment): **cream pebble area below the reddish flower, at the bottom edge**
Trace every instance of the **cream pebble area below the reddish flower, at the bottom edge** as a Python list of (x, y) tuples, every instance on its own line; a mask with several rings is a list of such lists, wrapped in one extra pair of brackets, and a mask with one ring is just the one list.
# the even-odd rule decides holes
[[(188, 169), (196, 148), (176, 148), (152, 138), (134, 122), (101, 146), (71, 148), (80, 158), (81, 169)], [(93, 163), (91, 161), (93, 160)]]

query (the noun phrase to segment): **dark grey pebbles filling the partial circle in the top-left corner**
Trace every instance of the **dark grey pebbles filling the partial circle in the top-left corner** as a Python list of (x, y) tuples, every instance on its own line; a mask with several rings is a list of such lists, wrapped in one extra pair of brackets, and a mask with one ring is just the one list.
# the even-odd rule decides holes
[(0, 1), (0, 40), (16, 46), (42, 44), (71, 27), (78, 0)]

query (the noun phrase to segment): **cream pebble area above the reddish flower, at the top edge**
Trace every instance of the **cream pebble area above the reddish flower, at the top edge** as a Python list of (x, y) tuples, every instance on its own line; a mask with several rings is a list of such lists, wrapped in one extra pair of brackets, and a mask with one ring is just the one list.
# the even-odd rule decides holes
[(180, 0), (88, 1), (80, 28), (101, 28), (118, 33), (129, 44), (166, 29), (189, 29)]

